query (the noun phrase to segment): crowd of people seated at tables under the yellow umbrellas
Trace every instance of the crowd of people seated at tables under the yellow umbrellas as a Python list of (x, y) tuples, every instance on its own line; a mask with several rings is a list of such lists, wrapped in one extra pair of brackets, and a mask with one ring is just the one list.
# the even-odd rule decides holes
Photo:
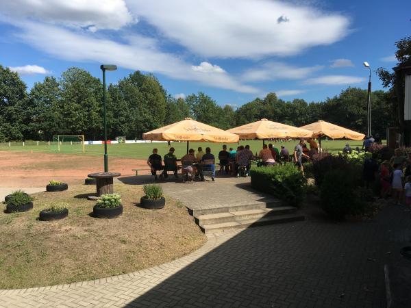
[[(303, 162), (309, 160), (312, 155), (318, 153), (319, 146), (315, 140), (309, 139), (310, 149), (307, 148), (305, 140), (301, 139), (299, 144), (295, 146), (295, 151), (290, 155), (290, 152), (284, 145), (278, 149), (273, 144), (263, 144), (260, 153), (255, 155), (250, 149), (250, 146), (238, 146), (237, 149), (229, 148), (223, 145), (223, 149), (219, 151), (219, 172), (225, 172), (226, 175), (240, 177), (240, 175), (248, 177), (251, 163), (256, 162), (258, 166), (274, 166), (275, 164), (283, 164), (290, 162), (292, 158), (298, 168), (303, 172)], [(211, 153), (210, 147), (203, 152), (201, 146), (197, 149), (197, 154), (194, 149), (189, 149), (188, 153), (181, 159), (177, 159), (174, 154), (175, 149), (171, 147), (169, 153), (162, 158), (158, 154), (158, 149), (153, 149), (153, 153), (147, 159), (147, 164), (151, 168), (151, 174), (158, 179), (158, 172), (160, 176), (169, 177), (168, 172), (173, 172), (177, 178), (177, 172), (182, 170), (184, 179), (188, 175), (193, 178), (204, 181), (205, 171), (210, 172), (211, 179), (214, 181), (216, 172), (216, 158)], [(181, 164), (179, 165), (178, 162)]]

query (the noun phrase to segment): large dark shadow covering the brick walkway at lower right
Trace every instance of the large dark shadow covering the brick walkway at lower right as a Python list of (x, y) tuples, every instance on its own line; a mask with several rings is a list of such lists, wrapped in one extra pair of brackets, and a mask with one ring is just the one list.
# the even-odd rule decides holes
[[(398, 263), (410, 216), (249, 228), (127, 307), (386, 307), (384, 264)], [(387, 253), (393, 252), (393, 253)]]

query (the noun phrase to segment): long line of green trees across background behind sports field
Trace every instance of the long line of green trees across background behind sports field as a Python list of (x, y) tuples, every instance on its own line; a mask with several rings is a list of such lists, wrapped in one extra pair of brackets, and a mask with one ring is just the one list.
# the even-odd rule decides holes
[[(107, 89), (108, 137), (141, 138), (142, 133), (186, 117), (229, 129), (261, 118), (293, 126), (316, 120), (366, 131), (366, 90), (347, 88), (325, 101), (284, 101), (275, 93), (234, 109), (220, 106), (203, 92), (175, 99), (151, 74), (136, 71)], [(396, 125), (390, 92), (373, 92), (372, 131), (385, 136)], [(27, 86), (9, 68), (0, 65), (0, 142), (51, 140), (58, 134), (103, 138), (103, 86), (81, 68), (69, 68), (56, 79), (45, 77)]]

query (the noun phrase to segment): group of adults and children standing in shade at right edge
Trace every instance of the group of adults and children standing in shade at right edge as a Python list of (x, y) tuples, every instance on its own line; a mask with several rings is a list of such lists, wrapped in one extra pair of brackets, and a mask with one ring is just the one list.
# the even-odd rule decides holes
[(411, 152), (406, 157), (401, 149), (395, 149), (393, 157), (380, 165), (373, 153), (364, 162), (363, 177), (367, 188), (373, 188), (378, 181), (381, 198), (392, 195), (396, 204), (411, 205)]

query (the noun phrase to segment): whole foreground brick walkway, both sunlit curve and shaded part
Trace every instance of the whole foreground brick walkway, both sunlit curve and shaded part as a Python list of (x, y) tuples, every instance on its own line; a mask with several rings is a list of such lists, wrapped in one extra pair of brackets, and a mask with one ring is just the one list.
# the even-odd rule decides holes
[(386, 307), (384, 264), (410, 266), (411, 216), (386, 206), (374, 220), (306, 222), (210, 235), (198, 251), (119, 277), (0, 290), (0, 307)]

